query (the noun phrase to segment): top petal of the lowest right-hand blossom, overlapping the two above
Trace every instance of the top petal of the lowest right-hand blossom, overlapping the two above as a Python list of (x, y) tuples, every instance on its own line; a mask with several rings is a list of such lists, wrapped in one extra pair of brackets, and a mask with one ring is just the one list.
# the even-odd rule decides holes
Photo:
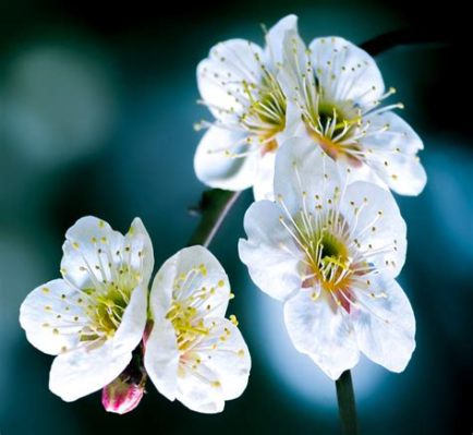
[(304, 202), (313, 210), (337, 190), (342, 190), (339, 167), (313, 141), (296, 137), (282, 144), (276, 157), (275, 196), (292, 215)]

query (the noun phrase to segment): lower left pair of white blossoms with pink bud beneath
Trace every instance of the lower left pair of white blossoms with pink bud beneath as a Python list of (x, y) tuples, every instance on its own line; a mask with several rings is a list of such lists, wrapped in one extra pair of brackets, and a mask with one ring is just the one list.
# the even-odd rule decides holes
[(148, 291), (155, 261), (140, 219), (123, 235), (84, 217), (62, 249), (62, 278), (33, 290), (20, 312), (29, 342), (57, 355), (52, 392), (72, 401), (104, 388), (105, 408), (118, 413), (137, 406), (147, 376), (198, 412), (220, 412), (243, 392), (250, 353), (237, 318), (225, 317), (232, 293), (208, 250), (179, 251)]

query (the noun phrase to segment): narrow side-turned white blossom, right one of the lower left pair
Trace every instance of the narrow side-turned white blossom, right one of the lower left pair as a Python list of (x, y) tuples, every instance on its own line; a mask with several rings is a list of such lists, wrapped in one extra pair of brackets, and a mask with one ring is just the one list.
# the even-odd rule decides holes
[(179, 251), (159, 269), (145, 367), (169, 400), (215, 413), (245, 389), (251, 360), (235, 317), (225, 318), (230, 298), (227, 274), (203, 246)]

